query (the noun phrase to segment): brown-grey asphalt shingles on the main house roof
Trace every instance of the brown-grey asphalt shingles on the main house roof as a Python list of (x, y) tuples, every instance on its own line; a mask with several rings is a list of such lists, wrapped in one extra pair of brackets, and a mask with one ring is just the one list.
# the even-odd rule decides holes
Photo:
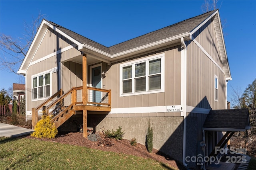
[(106, 47), (104, 45), (101, 45), (99, 43), (96, 43), (95, 41), (92, 41), (82, 35), (79, 35), (78, 33), (75, 33), (73, 31), (70, 31), (69, 29), (66, 29), (52, 21), (48, 21), (76, 41), (90, 45), (96, 49), (99, 49), (101, 51), (104, 51), (106, 53), (109, 53), (111, 55), (120, 53), (122, 51), (127, 51), (129, 49), (133, 49), (136, 47), (140, 47), (142, 45), (147, 45), (150, 43), (154, 43), (156, 41), (160, 41), (166, 38), (173, 37), (175, 35), (180, 35), (182, 33), (191, 32), (193, 29), (195, 29), (200, 23), (202, 23), (204, 20), (206, 20), (209, 16), (211, 16), (216, 10), (204, 13), (202, 15), (181, 21), (179, 23), (175, 23), (173, 25), (164, 27), (162, 29), (158, 29), (156, 31), (152, 31), (150, 33), (147, 33), (145, 35), (142, 35), (140, 37), (136, 37), (134, 39), (130, 39), (128, 41), (124, 41), (122, 43), (113, 45), (111, 47)]

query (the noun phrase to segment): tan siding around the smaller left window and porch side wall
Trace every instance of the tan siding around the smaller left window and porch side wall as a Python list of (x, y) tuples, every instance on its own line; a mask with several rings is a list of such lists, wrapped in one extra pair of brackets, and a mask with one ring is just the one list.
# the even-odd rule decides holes
[[(60, 53), (58, 55), (54, 55), (50, 58), (47, 58), (43, 61), (38, 63), (32, 64), (28, 67), (27, 74), (26, 74), (26, 84), (27, 86), (27, 100), (32, 101), (32, 76), (36, 74), (40, 74), (49, 70), (51, 72), (52, 68), (58, 67), (58, 61), (62, 61), (64, 59), (68, 59), (73, 56), (80, 55), (80, 51), (76, 48), (69, 49)], [(44, 56), (42, 56), (44, 57)], [(71, 64), (70, 64), (71, 63)], [(66, 66), (65, 66), (66, 64)], [(73, 62), (66, 62), (62, 64), (61, 68), (58, 68), (58, 71), (62, 70), (62, 90), (63, 92), (68, 91), (73, 86), (82, 86), (82, 65), (73, 63)], [(68, 68), (67, 68), (68, 67)], [(54, 72), (51, 74), (51, 87), (52, 87), (52, 95), (58, 92), (58, 72)], [(29, 89), (29, 90), (28, 90)], [(32, 102), (27, 102), (27, 110), (31, 110), (34, 107), (37, 107), (41, 104), (45, 99), (36, 100)]]

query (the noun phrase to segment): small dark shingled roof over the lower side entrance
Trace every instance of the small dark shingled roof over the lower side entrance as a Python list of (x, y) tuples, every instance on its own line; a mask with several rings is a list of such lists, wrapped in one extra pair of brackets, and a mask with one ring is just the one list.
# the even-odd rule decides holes
[(203, 130), (245, 131), (250, 129), (248, 109), (210, 110), (204, 121)]

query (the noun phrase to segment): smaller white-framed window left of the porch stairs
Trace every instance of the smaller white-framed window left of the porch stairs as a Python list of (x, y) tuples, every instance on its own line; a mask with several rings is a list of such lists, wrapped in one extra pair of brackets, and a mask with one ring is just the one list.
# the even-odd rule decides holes
[(47, 72), (38, 76), (32, 76), (32, 99), (50, 97), (51, 74)]

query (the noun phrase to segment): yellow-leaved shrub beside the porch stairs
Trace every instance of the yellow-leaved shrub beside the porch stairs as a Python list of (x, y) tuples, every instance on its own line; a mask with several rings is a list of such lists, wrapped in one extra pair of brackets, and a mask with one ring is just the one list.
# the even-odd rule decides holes
[(43, 115), (42, 119), (36, 123), (36, 127), (31, 136), (52, 139), (55, 138), (57, 134), (58, 130), (53, 126), (53, 123), (51, 123), (50, 116)]

